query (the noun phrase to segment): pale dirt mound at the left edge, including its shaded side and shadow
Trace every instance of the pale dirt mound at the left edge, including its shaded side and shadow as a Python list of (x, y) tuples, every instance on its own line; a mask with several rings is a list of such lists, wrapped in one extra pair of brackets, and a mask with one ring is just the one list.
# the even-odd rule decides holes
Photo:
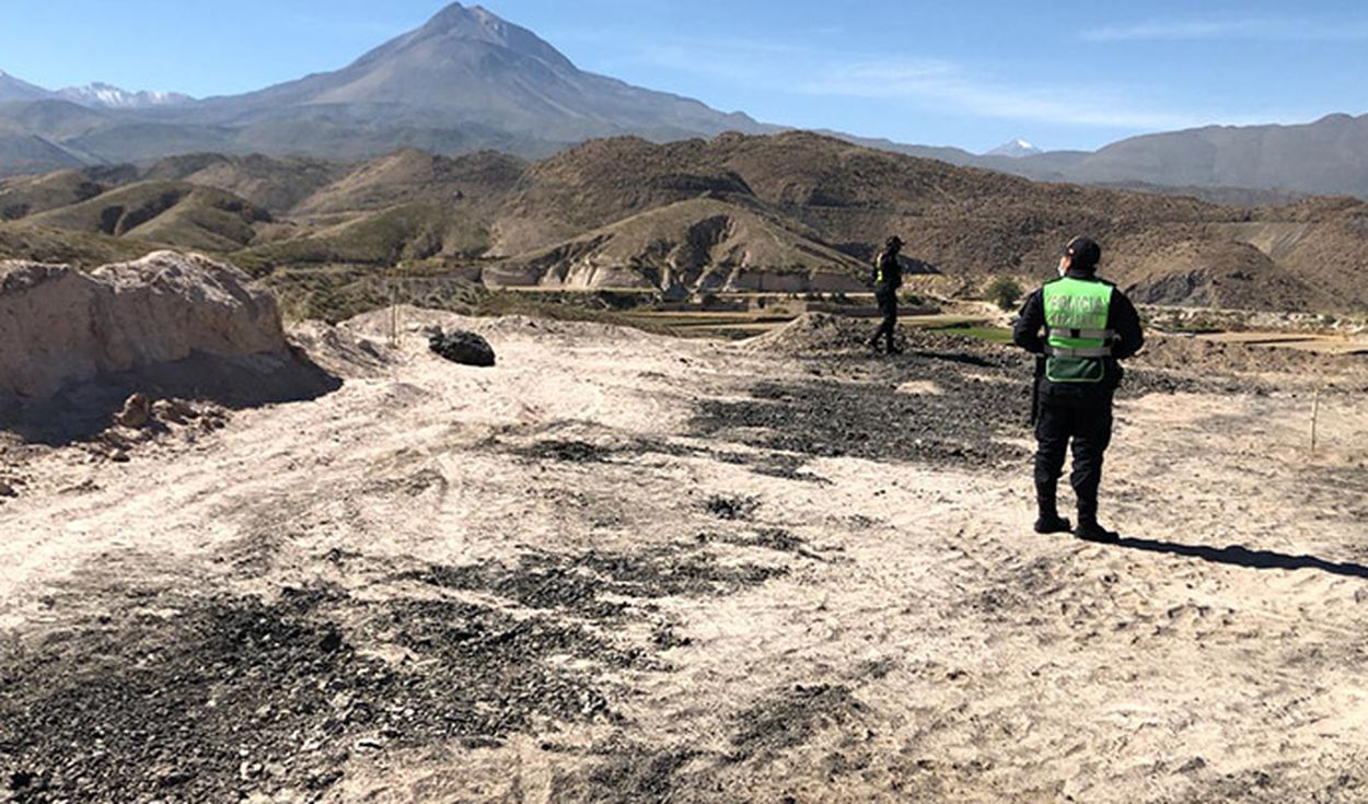
[(0, 413), (44, 432), (108, 420), (133, 391), (253, 405), (337, 387), (291, 351), (269, 294), (174, 252), (89, 273), (0, 263)]

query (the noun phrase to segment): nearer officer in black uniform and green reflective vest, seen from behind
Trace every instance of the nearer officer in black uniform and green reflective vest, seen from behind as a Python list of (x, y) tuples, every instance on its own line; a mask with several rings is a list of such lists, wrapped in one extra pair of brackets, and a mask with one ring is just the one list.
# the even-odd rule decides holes
[(1059, 263), (1059, 279), (1026, 299), (1012, 339), (1041, 356), (1036, 368), (1037, 533), (1070, 531), (1059, 515), (1055, 491), (1064, 454), (1074, 444), (1070, 481), (1078, 496), (1078, 528), (1088, 541), (1115, 543), (1116, 533), (1097, 522), (1103, 454), (1111, 443), (1112, 397), (1120, 384), (1122, 360), (1145, 343), (1134, 305), (1112, 283), (1097, 278), (1101, 247), (1074, 238)]

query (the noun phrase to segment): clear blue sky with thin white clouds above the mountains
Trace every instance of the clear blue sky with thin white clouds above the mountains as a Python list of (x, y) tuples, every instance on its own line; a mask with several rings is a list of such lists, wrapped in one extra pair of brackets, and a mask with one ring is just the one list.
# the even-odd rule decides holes
[[(440, 0), (0, 0), (0, 70), (204, 97), (334, 70)], [(1364, 113), (1352, 1), (486, 0), (586, 70), (762, 120), (986, 150)]]

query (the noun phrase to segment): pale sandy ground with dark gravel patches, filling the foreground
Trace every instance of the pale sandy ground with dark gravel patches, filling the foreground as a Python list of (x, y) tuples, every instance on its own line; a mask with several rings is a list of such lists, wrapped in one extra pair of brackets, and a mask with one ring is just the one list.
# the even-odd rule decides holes
[(315, 402), (7, 453), (0, 800), (1368, 797), (1356, 398), (1315, 458), (1305, 395), (1120, 402), (1103, 547), (1030, 531), (1012, 362), (405, 323), (499, 366), (378, 317)]

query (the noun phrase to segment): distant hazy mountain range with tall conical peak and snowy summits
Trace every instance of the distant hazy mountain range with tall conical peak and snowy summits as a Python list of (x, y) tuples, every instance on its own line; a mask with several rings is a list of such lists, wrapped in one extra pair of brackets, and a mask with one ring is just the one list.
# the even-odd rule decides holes
[[(0, 72), (0, 175), (204, 152), (358, 160), (395, 148), (442, 155), (494, 149), (539, 159), (602, 137), (668, 142), (781, 130), (586, 72), (535, 33), (461, 4), (341, 70), (241, 96), (194, 101), (103, 83), (49, 92)], [(1368, 198), (1368, 115), (1301, 126), (1212, 126), (1134, 137), (1097, 152), (1040, 152), (1014, 141), (974, 155), (832, 134), (1037, 180), (1218, 201)]]

